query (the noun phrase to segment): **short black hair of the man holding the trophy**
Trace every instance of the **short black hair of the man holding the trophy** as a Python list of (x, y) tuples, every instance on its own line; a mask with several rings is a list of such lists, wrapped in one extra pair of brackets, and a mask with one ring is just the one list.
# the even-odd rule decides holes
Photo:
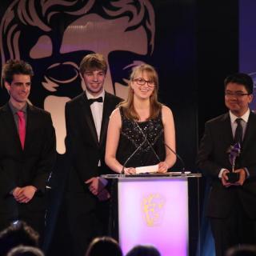
[(249, 74), (235, 73), (228, 75), (224, 80), (225, 90), (227, 84), (230, 82), (245, 86), (248, 94), (253, 94), (254, 92), (254, 81)]

